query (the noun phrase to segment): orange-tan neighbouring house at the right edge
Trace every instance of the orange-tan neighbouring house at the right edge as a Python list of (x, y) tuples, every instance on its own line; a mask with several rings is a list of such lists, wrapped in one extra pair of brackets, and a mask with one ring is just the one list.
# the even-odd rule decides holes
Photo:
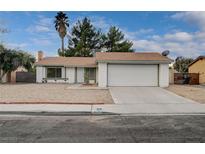
[(199, 73), (199, 84), (205, 84), (205, 56), (199, 56), (189, 64), (189, 73)]

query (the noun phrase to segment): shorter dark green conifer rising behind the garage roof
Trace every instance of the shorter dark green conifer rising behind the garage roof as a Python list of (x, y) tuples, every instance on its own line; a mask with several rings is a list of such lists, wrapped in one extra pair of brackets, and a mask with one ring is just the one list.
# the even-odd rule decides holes
[(107, 52), (133, 52), (133, 43), (124, 39), (124, 34), (115, 26), (110, 27), (108, 33), (103, 36), (104, 47)]

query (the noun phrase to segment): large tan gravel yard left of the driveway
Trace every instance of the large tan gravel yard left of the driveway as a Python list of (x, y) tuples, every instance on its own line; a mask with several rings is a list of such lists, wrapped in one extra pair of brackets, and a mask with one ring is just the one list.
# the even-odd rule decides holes
[(0, 103), (113, 103), (108, 89), (69, 89), (68, 84), (0, 84)]

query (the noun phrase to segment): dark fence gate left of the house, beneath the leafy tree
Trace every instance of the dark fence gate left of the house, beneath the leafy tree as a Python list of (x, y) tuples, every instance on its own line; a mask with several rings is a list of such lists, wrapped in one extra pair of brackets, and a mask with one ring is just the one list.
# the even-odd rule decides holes
[(32, 72), (16, 72), (16, 82), (36, 82), (36, 74)]

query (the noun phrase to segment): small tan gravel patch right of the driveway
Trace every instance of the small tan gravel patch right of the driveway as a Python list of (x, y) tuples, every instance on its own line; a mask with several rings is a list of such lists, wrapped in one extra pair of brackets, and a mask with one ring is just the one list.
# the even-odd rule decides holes
[(200, 85), (170, 85), (167, 90), (177, 95), (205, 103), (205, 86)]

